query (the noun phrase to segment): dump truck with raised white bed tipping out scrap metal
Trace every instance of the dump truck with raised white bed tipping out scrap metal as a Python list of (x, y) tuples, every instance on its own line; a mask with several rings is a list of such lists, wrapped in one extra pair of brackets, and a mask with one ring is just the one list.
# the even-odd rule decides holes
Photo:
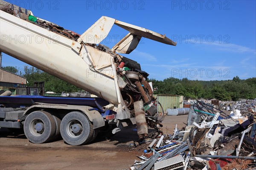
[[(0, 96), (0, 127), (23, 128), (33, 143), (61, 136), (71, 145), (132, 125), (141, 140), (148, 136), (148, 127), (160, 128), (164, 113), (146, 81), (148, 73), (120, 54), (134, 51), (142, 37), (174, 46), (176, 42), (106, 16), (80, 35), (3, 0), (0, 23), (1, 52), (99, 97)], [(101, 42), (113, 25), (128, 34), (108, 48)]]

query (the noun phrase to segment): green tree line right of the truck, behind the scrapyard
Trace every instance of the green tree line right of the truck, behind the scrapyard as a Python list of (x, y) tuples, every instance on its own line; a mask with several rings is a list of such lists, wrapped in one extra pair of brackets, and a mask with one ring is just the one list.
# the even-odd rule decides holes
[(239, 99), (256, 98), (256, 77), (240, 79), (238, 76), (232, 80), (199, 81), (187, 78), (173, 77), (159, 81), (149, 79), (157, 91), (154, 94), (182, 95), (186, 99), (219, 99), (224, 101), (237, 101)]

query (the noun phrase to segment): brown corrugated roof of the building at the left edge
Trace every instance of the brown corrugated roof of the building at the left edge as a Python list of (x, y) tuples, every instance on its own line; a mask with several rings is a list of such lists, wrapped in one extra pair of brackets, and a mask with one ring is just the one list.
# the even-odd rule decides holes
[(23, 84), (26, 84), (26, 78), (0, 68), (0, 82), (10, 82), (17, 84), (21, 84), (23, 82)]

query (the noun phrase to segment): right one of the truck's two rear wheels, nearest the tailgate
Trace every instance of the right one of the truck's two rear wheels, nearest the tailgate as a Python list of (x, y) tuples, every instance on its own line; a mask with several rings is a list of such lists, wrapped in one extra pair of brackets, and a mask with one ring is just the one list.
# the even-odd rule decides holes
[(93, 125), (84, 113), (73, 111), (61, 120), (61, 136), (67, 144), (81, 145), (93, 139)]

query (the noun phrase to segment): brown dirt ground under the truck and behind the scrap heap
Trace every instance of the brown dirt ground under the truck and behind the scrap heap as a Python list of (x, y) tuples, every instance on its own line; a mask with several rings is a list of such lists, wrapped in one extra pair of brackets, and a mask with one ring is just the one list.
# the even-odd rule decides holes
[[(172, 134), (177, 124), (186, 126), (188, 115), (166, 116), (163, 132)], [(63, 139), (33, 144), (23, 133), (0, 129), (0, 170), (127, 170), (139, 160), (142, 150), (131, 150), (137, 140), (134, 128), (123, 130), (110, 139), (99, 139), (83, 146), (71, 146)]]

